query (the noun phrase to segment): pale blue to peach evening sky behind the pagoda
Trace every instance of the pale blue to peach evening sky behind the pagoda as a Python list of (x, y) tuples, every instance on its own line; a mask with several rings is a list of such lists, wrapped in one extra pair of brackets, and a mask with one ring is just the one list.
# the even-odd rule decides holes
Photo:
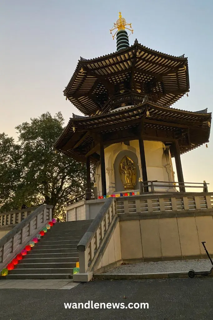
[[(16, 138), (16, 125), (46, 111), (61, 111), (65, 124), (73, 112), (81, 114), (63, 90), (80, 56), (91, 59), (116, 51), (109, 29), (119, 11), (134, 29), (130, 44), (137, 38), (154, 50), (188, 57), (189, 97), (173, 107), (212, 112), (213, 1), (0, 0), (0, 132)], [(185, 181), (206, 180), (209, 191), (211, 136), (208, 148), (181, 156)]]

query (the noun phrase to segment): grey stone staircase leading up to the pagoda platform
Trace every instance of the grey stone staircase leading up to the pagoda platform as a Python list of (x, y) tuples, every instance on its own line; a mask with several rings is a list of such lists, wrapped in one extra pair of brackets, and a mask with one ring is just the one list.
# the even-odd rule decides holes
[(4, 279), (70, 279), (92, 220), (56, 223)]

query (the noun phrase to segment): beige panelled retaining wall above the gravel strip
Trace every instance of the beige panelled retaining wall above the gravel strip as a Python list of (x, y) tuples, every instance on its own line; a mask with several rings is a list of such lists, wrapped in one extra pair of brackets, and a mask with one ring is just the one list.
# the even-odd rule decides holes
[(120, 221), (123, 260), (175, 260), (213, 254), (212, 214), (195, 217)]

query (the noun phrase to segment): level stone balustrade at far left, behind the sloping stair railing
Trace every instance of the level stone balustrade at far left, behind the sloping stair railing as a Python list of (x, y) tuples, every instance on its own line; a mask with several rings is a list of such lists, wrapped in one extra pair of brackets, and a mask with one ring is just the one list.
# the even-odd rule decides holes
[(0, 228), (20, 223), (35, 209), (37, 207), (0, 213)]

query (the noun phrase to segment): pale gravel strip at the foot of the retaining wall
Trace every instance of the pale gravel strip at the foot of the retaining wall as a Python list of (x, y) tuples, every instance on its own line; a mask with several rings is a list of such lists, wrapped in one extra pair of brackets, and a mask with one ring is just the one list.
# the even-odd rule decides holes
[(120, 265), (106, 273), (122, 274), (122, 273), (156, 273), (156, 272), (188, 272), (190, 269), (194, 271), (206, 271), (212, 267), (209, 259), (197, 260), (175, 260), (175, 261), (159, 261), (159, 262), (140, 262), (127, 265)]

